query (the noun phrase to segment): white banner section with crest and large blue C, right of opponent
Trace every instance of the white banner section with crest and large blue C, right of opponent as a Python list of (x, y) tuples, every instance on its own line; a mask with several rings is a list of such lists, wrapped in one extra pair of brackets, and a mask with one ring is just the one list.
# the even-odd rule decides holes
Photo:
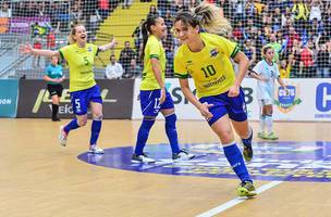
[(286, 79), (290, 95), (275, 87), (279, 120), (331, 122), (331, 79)]

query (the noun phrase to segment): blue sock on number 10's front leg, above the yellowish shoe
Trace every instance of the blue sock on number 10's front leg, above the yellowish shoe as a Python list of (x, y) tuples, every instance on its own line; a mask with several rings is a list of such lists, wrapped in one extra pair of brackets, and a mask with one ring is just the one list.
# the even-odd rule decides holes
[(247, 167), (244, 163), (243, 155), (241, 150), (237, 148), (236, 143), (230, 144), (228, 146), (223, 146), (224, 154), (230, 163), (232, 169), (236, 174), (236, 176), (242, 181), (252, 181), (252, 178), (248, 174)]

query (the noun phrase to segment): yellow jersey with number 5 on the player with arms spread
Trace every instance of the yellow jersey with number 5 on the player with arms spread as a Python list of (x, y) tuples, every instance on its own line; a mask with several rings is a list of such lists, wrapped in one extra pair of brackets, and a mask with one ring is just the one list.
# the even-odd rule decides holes
[(98, 51), (98, 47), (91, 43), (86, 43), (85, 48), (73, 43), (59, 50), (69, 64), (71, 92), (85, 90), (96, 85), (93, 67)]

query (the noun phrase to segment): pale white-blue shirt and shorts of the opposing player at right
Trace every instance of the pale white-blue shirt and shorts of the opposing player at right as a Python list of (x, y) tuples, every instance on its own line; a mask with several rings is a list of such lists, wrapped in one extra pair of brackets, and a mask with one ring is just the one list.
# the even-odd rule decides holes
[(274, 80), (280, 77), (278, 65), (268, 64), (262, 60), (256, 64), (253, 71), (267, 80), (257, 81), (257, 99), (273, 102), (274, 95)]

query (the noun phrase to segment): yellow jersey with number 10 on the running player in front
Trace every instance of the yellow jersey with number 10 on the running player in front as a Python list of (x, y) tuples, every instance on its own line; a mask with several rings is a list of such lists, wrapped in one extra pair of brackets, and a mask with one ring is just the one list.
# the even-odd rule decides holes
[(205, 48), (192, 52), (182, 44), (174, 58), (174, 75), (194, 79), (198, 98), (226, 92), (234, 85), (235, 73), (230, 61), (240, 51), (238, 46), (221, 36), (200, 33)]

